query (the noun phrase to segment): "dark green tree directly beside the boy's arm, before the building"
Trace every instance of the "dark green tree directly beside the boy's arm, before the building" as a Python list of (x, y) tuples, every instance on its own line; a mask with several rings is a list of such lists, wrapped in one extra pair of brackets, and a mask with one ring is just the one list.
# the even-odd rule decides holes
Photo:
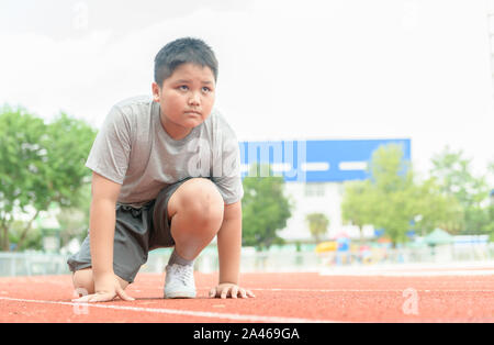
[[(261, 171), (269, 174), (260, 174)], [(291, 204), (283, 194), (283, 177), (272, 175), (269, 166), (254, 165), (244, 178), (242, 209), (245, 246), (265, 249), (282, 242), (277, 231), (287, 226), (291, 216)]]

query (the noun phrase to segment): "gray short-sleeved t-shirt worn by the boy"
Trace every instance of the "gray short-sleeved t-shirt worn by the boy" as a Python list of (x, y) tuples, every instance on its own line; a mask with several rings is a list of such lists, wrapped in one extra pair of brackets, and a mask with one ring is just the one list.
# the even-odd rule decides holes
[(226, 204), (244, 196), (240, 151), (223, 115), (211, 115), (182, 140), (160, 122), (159, 103), (136, 97), (115, 104), (98, 133), (86, 166), (122, 185), (119, 203), (141, 207), (187, 177), (210, 177)]

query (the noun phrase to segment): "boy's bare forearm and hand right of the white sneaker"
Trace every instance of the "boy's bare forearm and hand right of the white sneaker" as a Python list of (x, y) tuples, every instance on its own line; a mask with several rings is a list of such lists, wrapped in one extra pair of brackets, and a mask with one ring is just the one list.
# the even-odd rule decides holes
[(220, 259), (220, 285), (211, 290), (211, 296), (232, 298), (254, 297), (254, 293), (238, 287), (242, 251), (242, 201), (225, 204), (223, 223), (217, 233)]

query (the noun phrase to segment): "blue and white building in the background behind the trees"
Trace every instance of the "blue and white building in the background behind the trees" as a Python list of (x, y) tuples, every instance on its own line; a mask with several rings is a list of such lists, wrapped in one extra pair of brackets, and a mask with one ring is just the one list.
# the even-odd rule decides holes
[[(343, 182), (368, 178), (372, 153), (389, 144), (401, 145), (404, 159), (412, 159), (408, 138), (242, 142), (242, 176), (251, 174), (252, 164), (269, 164), (273, 175), (284, 178), (285, 192), (295, 201), (295, 209), (287, 229), (279, 233), (283, 238), (310, 240), (305, 215), (313, 212), (329, 218), (329, 237), (340, 232), (358, 236), (357, 226), (341, 222)], [(260, 174), (269, 176), (269, 171)]]

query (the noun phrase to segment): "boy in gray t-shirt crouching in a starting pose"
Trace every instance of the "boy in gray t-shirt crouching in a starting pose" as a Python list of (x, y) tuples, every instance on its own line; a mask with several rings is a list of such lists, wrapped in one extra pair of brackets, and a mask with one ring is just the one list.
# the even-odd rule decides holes
[(90, 230), (67, 264), (89, 294), (74, 301), (133, 300), (124, 290), (148, 252), (170, 246), (164, 296), (194, 298), (193, 261), (215, 235), (220, 283), (210, 297), (254, 297), (238, 287), (244, 190), (235, 133), (213, 110), (216, 79), (211, 47), (176, 40), (155, 58), (153, 99), (110, 111), (86, 163)]

